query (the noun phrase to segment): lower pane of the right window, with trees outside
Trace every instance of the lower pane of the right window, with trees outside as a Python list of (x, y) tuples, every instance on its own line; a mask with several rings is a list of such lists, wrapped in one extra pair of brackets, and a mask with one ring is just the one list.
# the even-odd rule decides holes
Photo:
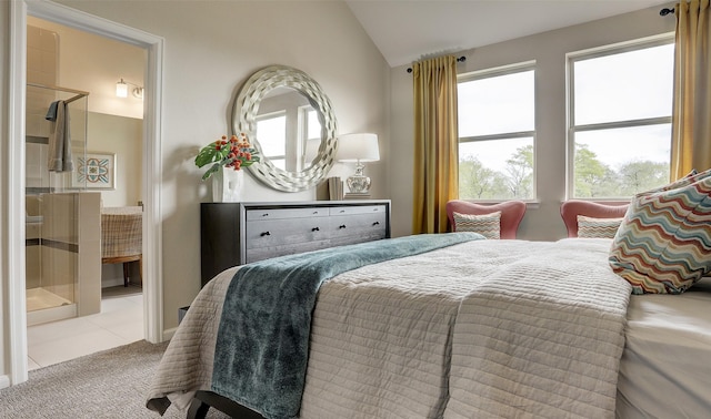
[(669, 182), (671, 124), (575, 133), (574, 196), (632, 196)]

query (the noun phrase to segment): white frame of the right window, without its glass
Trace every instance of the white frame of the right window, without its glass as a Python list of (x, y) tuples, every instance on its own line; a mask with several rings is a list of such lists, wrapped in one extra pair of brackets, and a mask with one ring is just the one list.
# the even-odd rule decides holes
[[(628, 129), (639, 127), (648, 125), (661, 125), (672, 123), (672, 112), (669, 110), (669, 116), (652, 116), (633, 120), (622, 120), (615, 122), (599, 122), (575, 125), (575, 75), (573, 71), (573, 64), (577, 61), (590, 60), (601, 57), (615, 55), (620, 53), (639, 51), (648, 48), (654, 48), (660, 45), (668, 45), (674, 43), (674, 32), (661, 33), (653, 37), (645, 37), (635, 39), (632, 41), (618, 42), (608, 45), (595, 47), (587, 50), (580, 50), (569, 52), (565, 54), (565, 200), (581, 200), (593, 202), (608, 202), (608, 203), (627, 203), (630, 202), (630, 197), (625, 196), (611, 196), (611, 197), (579, 197), (574, 195), (575, 182), (574, 182), (574, 163), (575, 163), (575, 134), (579, 132), (613, 130), (613, 129)], [(673, 80), (670, 81), (673, 83)], [(672, 98), (673, 100), (673, 98)], [(669, 139), (671, 142), (671, 139)]]

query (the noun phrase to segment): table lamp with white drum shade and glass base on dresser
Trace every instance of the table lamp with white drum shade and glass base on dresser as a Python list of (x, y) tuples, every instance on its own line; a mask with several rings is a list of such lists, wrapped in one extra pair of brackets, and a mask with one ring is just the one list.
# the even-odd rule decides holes
[(377, 162), (380, 160), (378, 150), (378, 135), (347, 134), (338, 137), (336, 160), (339, 162), (356, 162), (356, 174), (346, 180), (351, 194), (368, 195), (370, 191), (370, 177), (363, 174), (362, 162)]

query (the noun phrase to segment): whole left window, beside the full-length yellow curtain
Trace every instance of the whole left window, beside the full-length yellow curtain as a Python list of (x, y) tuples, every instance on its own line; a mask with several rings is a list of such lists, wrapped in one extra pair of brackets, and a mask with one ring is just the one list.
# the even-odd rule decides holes
[(533, 198), (533, 63), (463, 74), (457, 94), (459, 197)]

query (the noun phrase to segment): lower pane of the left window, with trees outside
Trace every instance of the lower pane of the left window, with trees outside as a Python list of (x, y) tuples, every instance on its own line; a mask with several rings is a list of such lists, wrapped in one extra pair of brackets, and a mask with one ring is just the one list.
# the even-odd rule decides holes
[(533, 197), (533, 137), (459, 144), (461, 200)]

